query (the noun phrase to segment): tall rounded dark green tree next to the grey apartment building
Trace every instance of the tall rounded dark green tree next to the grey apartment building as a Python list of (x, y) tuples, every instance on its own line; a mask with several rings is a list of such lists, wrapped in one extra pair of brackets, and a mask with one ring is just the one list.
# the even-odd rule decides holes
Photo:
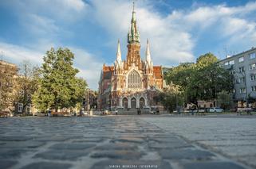
[(230, 92), (232, 88), (233, 76), (219, 66), (216, 56), (207, 53), (195, 63), (186, 94), (190, 102), (198, 105), (199, 100), (215, 100), (220, 92)]

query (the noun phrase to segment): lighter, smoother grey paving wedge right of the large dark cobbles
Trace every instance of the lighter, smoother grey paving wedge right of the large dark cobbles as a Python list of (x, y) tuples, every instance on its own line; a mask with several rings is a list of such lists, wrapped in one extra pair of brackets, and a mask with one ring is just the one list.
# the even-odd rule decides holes
[(191, 144), (256, 168), (256, 116), (145, 117), (144, 121), (176, 133)]

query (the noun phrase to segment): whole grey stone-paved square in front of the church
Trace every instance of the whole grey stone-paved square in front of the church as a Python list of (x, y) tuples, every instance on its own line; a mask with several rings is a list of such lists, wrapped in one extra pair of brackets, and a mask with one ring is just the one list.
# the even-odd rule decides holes
[(0, 119), (0, 168), (254, 168), (255, 120), (161, 116)]

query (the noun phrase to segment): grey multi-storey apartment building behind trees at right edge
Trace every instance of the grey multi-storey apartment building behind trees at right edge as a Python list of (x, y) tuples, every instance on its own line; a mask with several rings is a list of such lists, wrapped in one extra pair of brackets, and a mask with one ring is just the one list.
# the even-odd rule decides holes
[(220, 64), (234, 75), (234, 102), (246, 106), (248, 98), (256, 98), (256, 48), (221, 60)]

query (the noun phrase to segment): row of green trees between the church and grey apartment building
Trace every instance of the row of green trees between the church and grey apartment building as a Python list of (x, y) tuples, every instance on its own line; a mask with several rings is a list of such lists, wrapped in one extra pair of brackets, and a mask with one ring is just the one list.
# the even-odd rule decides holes
[(178, 67), (165, 69), (164, 76), (167, 87), (159, 100), (170, 111), (187, 103), (198, 107), (199, 101), (228, 98), (233, 90), (233, 76), (211, 53), (199, 56), (195, 63), (180, 63)]

